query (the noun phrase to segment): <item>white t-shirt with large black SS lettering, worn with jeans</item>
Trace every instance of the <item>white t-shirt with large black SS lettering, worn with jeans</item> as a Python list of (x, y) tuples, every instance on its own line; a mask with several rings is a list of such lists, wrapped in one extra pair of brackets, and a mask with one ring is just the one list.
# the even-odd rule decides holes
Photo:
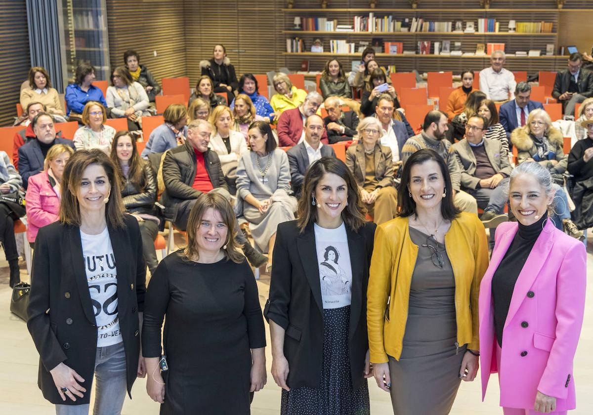
[(109, 230), (105, 228), (98, 235), (81, 231), (80, 237), (88, 290), (97, 322), (97, 347), (111, 346), (123, 340), (117, 318), (117, 270)]

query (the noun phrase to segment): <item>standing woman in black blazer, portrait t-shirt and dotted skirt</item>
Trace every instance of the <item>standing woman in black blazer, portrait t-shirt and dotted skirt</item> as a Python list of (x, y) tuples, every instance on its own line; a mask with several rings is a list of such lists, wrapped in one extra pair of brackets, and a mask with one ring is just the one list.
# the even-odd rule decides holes
[(264, 316), (280, 413), (368, 414), (366, 286), (375, 224), (337, 158), (305, 175), (298, 220), (278, 226)]

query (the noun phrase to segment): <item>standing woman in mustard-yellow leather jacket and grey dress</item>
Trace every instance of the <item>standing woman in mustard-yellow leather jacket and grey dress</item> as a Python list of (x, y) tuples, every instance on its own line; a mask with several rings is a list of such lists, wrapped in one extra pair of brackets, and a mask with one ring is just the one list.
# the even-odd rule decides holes
[(378, 386), (397, 415), (445, 415), (478, 369), (478, 293), (488, 267), (484, 226), (453, 204), (451, 177), (431, 149), (404, 165), (400, 213), (377, 227), (367, 292)]

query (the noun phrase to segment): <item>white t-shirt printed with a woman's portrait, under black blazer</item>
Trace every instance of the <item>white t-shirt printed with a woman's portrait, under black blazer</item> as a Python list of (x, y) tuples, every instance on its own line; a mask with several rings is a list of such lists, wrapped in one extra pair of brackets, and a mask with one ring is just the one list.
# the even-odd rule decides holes
[(346, 226), (336, 229), (315, 224), (315, 249), (323, 308), (340, 308), (352, 301), (352, 267)]

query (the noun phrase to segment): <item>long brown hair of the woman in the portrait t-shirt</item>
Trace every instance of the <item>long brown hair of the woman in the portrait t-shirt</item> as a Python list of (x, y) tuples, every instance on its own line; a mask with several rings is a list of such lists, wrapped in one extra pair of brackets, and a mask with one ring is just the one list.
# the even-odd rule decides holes
[(333, 173), (346, 181), (348, 204), (342, 210), (343, 221), (354, 231), (358, 231), (365, 224), (366, 209), (362, 205), (361, 191), (358, 189), (354, 176), (342, 160), (335, 157), (321, 157), (311, 164), (303, 180), (297, 208), (297, 225), (301, 234), (307, 225), (317, 221), (317, 206), (311, 205), (311, 195), (315, 193), (315, 187), (327, 173)]

